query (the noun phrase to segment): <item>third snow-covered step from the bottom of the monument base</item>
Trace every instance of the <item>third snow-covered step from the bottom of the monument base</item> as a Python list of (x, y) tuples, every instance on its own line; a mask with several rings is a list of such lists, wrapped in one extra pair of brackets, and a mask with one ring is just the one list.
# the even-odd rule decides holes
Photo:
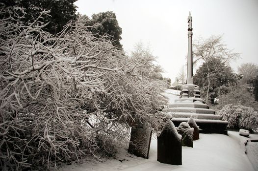
[(215, 111), (207, 108), (193, 108), (193, 107), (170, 107), (163, 109), (163, 112), (187, 112), (187, 113), (204, 113), (215, 114)]

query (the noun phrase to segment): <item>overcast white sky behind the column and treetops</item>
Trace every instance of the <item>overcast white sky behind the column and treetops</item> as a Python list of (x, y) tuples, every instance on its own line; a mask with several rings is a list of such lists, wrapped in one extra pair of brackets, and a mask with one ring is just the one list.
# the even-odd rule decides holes
[(224, 35), (224, 43), (241, 59), (231, 63), (258, 64), (258, 0), (77, 0), (77, 12), (113, 11), (123, 34), (121, 43), (129, 52), (135, 43), (150, 44), (164, 77), (172, 82), (187, 56), (187, 17), (193, 18), (193, 40)]

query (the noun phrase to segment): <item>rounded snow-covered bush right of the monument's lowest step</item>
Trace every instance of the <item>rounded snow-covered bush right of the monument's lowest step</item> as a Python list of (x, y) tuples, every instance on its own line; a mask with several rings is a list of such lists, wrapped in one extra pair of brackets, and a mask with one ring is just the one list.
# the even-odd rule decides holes
[(228, 128), (256, 130), (258, 128), (258, 112), (252, 107), (228, 104), (217, 112), (222, 120), (228, 121)]

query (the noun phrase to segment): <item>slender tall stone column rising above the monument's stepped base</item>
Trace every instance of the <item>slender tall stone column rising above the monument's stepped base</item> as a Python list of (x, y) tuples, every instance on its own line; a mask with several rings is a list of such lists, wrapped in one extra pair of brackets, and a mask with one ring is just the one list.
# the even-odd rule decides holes
[(187, 55), (187, 80), (186, 84), (193, 84), (193, 46), (192, 46), (192, 16), (188, 16), (188, 55)]

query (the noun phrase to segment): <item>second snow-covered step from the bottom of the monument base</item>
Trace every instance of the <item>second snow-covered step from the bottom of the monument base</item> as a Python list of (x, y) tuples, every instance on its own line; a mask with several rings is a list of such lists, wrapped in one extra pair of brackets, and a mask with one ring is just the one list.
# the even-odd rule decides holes
[(187, 113), (187, 112), (171, 112), (173, 118), (193, 118), (196, 119), (213, 119), (213, 120), (221, 120), (221, 116), (213, 115), (213, 114), (205, 114), (205, 113)]

